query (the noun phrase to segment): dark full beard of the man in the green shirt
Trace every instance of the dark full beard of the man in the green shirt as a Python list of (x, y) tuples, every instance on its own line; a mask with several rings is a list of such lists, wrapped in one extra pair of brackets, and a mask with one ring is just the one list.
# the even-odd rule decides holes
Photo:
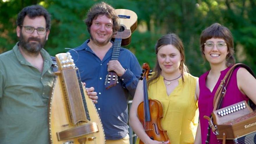
[[(29, 42), (30, 40), (37, 41), (38, 43)], [(23, 34), (20, 33), (19, 45), (31, 54), (38, 54), (40, 50), (45, 46), (45, 42), (46, 42), (46, 35), (45, 35), (45, 38), (42, 40), (40, 38), (34, 38), (34, 37), (30, 37), (27, 40), (25, 40)]]

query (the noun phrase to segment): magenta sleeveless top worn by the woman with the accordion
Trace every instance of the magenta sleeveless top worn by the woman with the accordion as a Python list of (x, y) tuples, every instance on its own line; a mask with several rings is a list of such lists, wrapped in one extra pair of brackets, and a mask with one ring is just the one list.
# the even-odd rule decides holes
[[(226, 87), (227, 91), (226, 91), (226, 95), (223, 99), (221, 108), (241, 102), (243, 100), (248, 101), (248, 97), (246, 95), (243, 95), (237, 86), (237, 70), (239, 68), (240, 67), (237, 67), (233, 71), (233, 74), (228, 83), (228, 86)], [(199, 99), (198, 99), (198, 108), (199, 108), (202, 144), (204, 144), (207, 139), (208, 125), (209, 125), (208, 120), (204, 119), (203, 116), (211, 115), (211, 113), (213, 111), (214, 95), (221, 83), (221, 80), (225, 77), (225, 75), (229, 69), (230, 69), (230, 67), (227, 67), (225, 70), (221, 71), (221, 75), (220, 75), (216, 85), (214, 86), (214, 89), (212, 92), (206, 87), (206, 78), (207, 78), (207, 75), (209, 74), (209, 71), (202, 74), (199, 77), (200, 94), (199, 94)], [(209, 143), (210, 144), (219, 143), (216, 136), (213, 134), (212, 131), (210, 133)]]

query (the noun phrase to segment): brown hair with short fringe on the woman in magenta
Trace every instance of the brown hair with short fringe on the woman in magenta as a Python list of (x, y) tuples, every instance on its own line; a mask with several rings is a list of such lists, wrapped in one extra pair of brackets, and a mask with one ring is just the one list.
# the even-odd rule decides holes
[(226, 57), (226, 66), (229, 67), (230, 65), (233, 65), (236, 63), (235, 57), (234, 57), (234, 40), (232, 33), (230, 30), (222, 26), (221, 24), (214, 23), (211, 26), (207, 27), (205, 30), (202, 31), (200, 36), (200, 50), (201, 55), (205, 59), (205, 42), (211, 38), (221, 38), (225, 40), (227, 43), (227, 51), (229, 52)]

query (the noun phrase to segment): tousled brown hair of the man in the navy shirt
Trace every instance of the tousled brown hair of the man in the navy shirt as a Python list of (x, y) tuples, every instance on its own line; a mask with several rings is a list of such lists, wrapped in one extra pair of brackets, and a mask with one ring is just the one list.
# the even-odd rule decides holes
[(97, 3), (87, 13), (87, 18), (84, 22), (87, 25), (87, 30), (90, 33), (90, 28), (93, 23), (93, 19), (96, 19), (99, 15), (106, 15), (113, 21), (113, 32), (116, 33), (119, 28), (118, 16), (115, 13), (115, 9), (105, 2)]

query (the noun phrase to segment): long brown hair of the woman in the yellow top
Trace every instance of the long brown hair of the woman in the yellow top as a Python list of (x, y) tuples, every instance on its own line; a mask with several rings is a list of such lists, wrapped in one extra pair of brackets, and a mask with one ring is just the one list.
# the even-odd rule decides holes
[[(156, 54), (158, 53), (158, 50), (165, 46), (165, 45), (173, 45), (176, 49), (179, 50), (180, 52), (180, 56), (181, 56), (181, 62), (179, 65), (179, 70), (181, 70), (182, 73), (182, 82), (184, 82), (184, 77), (183, 74), (184, 72), (189, 72), (188, 67), (185, 64), (185, 54), (184, 54), (184, 46), (182, 41), (180, 40), (180, 38), (175, 34), (175, 33), (168, 33), (164, 36), (162, 36), (158, 41), (157, 44), (155, 46), (155, 52)], [(161, 68), (158, 62), (158, 59), (156, 57), (156, 64), (154, 67), (154, 74), (152, 75), (151, 78), (148, 79), (147, 84), (148, 86), (150, 84), (152, 84), (152, 81), (154, 81), (155, 79), (158, 79), (160, 74), (161, 74)]]

